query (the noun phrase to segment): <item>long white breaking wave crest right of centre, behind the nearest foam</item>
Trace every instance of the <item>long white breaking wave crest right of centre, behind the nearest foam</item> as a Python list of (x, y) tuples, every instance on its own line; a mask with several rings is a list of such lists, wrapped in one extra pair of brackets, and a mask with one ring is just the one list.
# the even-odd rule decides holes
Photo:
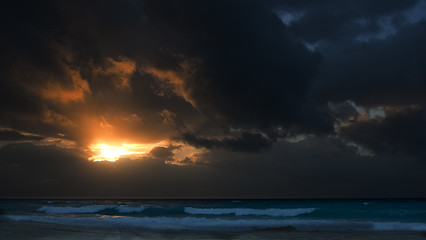
[(185, 207), (185, 212), (189, 214), (205, 214), (205, 215), (225, 215), (234, 214), (236, 216), (271, 216), (271, 217), (294, 217), (302, 214), (312, 213), (315, 208), (193, 208)]

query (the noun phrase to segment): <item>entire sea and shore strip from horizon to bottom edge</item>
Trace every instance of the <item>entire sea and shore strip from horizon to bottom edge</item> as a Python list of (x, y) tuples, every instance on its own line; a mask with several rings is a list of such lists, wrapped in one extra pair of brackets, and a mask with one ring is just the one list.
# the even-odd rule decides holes
[(426, 239), (426, 200), (1, 200), (0, 239)]

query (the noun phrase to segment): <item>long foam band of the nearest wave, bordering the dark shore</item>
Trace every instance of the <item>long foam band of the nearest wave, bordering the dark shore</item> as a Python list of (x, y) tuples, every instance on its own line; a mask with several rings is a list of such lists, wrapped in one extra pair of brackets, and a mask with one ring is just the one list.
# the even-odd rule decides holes
[(297, 220), (297, 219), (221, 219), (197, 217), (54, 217), (9, 215), (12, 221), (37, 221), (85, 227), (121, 227), (150, 230), (206, 230), (240, 231), (292, 226), (300, 231), (424, 231), (426, 223), (399, 222), (352, 222), (343, 220)]

